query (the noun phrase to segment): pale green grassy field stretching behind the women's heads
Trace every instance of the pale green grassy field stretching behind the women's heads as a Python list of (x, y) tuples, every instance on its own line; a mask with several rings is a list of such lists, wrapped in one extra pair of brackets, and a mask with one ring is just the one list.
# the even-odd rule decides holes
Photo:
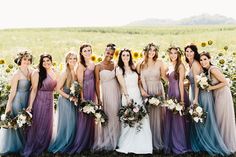
[[(214, 48), (204, 47), (211, 52), (221, 51), (224, 46), (236, 51), (236, 26), (176, 26), (176, 27), (91, 27), (91, 28), (40, 28), (0, 30), (0, 58), (8, 61), (18, 49), (30, 49), (35, 56), (49, 52), (57, 62), (64, 61), (70, 49), (79, 49), (81, 43), (93, 45), (96, 54), (103, 54), (105, 45), (113, 42), (118, 48), (142, 51), (149, 42), (157, 43), (165, 54), (170, 44), (184, 47), (188, 43), (200, 45), (213, 41)], [(200, 47), (200, 51), (203, 48)]]

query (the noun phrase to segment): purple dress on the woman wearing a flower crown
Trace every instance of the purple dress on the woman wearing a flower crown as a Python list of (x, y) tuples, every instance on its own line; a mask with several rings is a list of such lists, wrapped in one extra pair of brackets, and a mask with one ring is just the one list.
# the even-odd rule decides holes
[[(174, 71), (169, 74), (168, 97), (180, 101), (179, 80), (175, 79)], [(185, 107), (189, 99), (184, 92)], [(183, 154), (190, 151), (189, 125), (184, 116), (173, 114), (167, 110), (164, 122), (164, 151), (165, 153)]]

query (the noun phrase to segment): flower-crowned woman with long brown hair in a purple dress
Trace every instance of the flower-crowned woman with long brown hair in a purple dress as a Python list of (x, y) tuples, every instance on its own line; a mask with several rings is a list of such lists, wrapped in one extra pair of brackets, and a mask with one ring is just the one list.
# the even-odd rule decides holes
[[(185, 67), (181, 61), (181, 50), (178, 47), (170, 47), (167, 51), (171, 62), (167, 73), (168, 97), (177, 99), (186, 108), (189, 106), (189, 99), (184, 90)], [(189, 127), (184, 116), (167, 110), (164, 130), (165, 153), (184, 154), (190, 151)]]

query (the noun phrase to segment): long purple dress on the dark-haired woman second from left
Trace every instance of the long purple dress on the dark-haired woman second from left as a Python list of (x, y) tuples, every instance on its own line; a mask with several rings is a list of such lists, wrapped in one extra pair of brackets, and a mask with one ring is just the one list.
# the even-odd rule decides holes
[(53, 90), (56, 80), (49, 75), (38, 90), (33, 104), (33, 122), (27, 133), (23, 156), (39, 156), (47, 150), (53, 127)]

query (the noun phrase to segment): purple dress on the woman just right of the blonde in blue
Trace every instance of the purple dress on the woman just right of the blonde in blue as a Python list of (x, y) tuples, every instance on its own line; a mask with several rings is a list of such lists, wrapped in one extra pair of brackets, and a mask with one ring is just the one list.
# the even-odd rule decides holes
[[(94, 70), (86, 68), (84, 72), (83, 95), (85, 100), (95, 101)], [(69, 154), (89, 150), (94, 142), (94, 118), (80, 112), (77, 114), (77, 131), (74, 142), (69, 149)]]

